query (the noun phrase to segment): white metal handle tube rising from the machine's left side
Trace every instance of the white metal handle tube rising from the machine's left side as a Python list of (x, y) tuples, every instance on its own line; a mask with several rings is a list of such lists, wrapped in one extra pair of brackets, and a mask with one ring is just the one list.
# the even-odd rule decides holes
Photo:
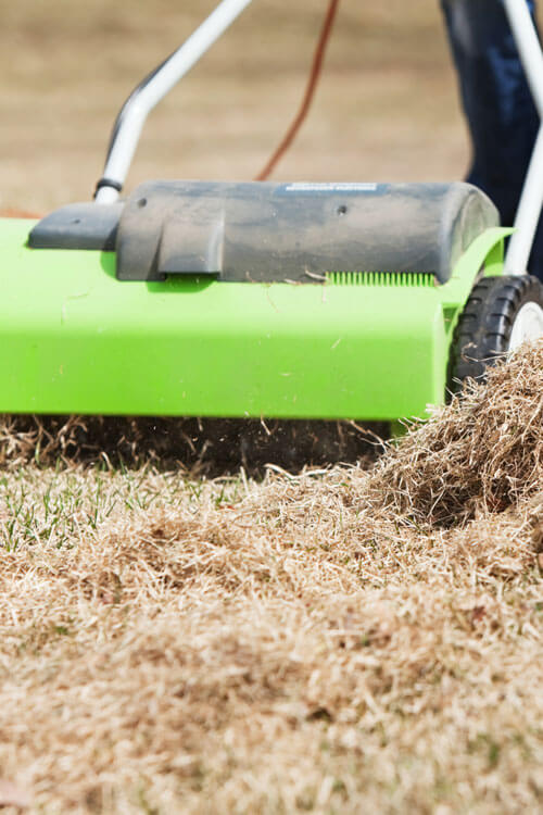
[(113, 127), (103, 177), (97, 185), (97, 203), (117, 200), (149, 113), (251, 2), (223, 0), (188, 40), (130, 93)]

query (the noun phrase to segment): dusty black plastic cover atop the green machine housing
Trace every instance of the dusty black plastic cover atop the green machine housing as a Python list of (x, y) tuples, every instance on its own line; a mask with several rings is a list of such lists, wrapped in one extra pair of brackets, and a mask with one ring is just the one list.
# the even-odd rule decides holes
[(485, 228), (468, 184), (149, 181), (126, 200), (117, 277), (311, 283), (327, 272), (418, 272), (445, 283)]

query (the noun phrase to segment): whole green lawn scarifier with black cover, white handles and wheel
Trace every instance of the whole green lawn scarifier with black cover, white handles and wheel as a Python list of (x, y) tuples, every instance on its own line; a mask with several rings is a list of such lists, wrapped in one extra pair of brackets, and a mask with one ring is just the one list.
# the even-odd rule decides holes
[[(148, 110), (247, 4), (220, 3), (131, 95), (94, 202), (0, 221), (1, 412), (395, 421), (478, 373), (470, 349), (543, 334), (541, 287), (517, 274), (541, 155), (505, 261), (513, 230), (464, 184), (151, 181), (118, 200)], [(482, 324), (485, 276), (503, 279)]]

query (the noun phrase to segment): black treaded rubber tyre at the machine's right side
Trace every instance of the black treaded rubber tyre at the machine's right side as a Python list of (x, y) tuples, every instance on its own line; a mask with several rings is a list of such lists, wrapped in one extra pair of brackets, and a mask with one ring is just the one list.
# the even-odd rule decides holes
[(451, 347), (453, 393), (468, 377), (484, 378), (485, 369), (509, 351), (515, 319), (528, 303), (543, 310), (543, 286), (531, 275), (483, 277), (473, 286)]

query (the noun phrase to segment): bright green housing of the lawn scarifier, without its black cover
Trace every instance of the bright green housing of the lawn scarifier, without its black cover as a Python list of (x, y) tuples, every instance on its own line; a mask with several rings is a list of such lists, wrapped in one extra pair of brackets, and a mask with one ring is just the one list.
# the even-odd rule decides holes
[(350, 286), (118, 281), (114, 252), (29, 249), (26, 221), (2, 230), (3, 411), (372, 419), (443, 400), (454, 323), (504, 234), (443, 286)]

